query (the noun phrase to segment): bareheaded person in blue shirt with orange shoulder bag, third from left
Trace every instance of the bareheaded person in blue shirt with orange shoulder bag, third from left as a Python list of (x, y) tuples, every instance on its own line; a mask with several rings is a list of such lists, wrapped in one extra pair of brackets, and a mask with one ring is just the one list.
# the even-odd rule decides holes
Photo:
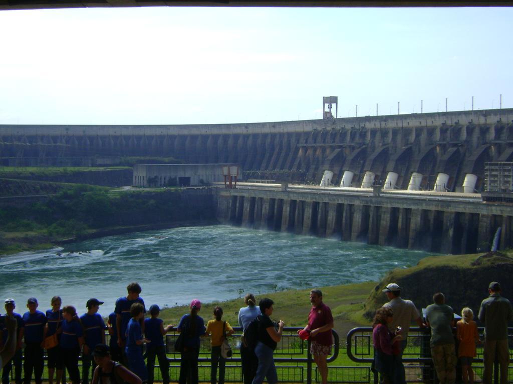
[[(63, 310), (61, 309), (62, 299), (60, 296), (53, 296), (50, 300), (52, 306), (51, 309), (46, 311), (46, 335), (45, 337), (57, 334), (57, 339), (61, 339), (62, 323), (64, 320)], [(53, 373), (56, 370), (57, 375), (55, 382), (60, 383), (63, 375), (63, 359), (61, 353), (61, 347), (57, 344), (55, 347), (47, 349), (46, 354), (48, 356), (48, 384), (53, 384)]]

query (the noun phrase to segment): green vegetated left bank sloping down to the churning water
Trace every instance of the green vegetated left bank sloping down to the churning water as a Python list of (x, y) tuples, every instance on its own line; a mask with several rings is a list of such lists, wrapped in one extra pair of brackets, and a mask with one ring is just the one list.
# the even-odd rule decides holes
[(33, 249), (95, 230), (184, 220), (213, 219), (206, 196), (184, 196), (179, 189), (153, 193), (66, 185), (46, 200), (0, 207), (0, 252)]

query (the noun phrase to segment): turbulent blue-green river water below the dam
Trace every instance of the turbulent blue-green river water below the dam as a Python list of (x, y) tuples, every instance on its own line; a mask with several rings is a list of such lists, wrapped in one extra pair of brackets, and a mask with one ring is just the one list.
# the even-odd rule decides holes
[[(85, 311), (90, 297), (105, 301), (102, 315), (134, 281), (146, 306), (174, 306), (364, 281), (415, 265), (426, 252), (342, 242), (230, 226), (173, 228), (111, 236), (0, 258), (0, 298), (25, 312), (35, 296)], [(2, 308), (3, 309), (3, 308)]]

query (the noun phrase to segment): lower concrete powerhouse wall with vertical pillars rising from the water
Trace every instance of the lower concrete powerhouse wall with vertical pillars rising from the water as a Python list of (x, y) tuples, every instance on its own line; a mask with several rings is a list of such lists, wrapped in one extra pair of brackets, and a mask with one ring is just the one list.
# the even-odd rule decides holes
[(501, 227), (499, 248), (513, 246), (513, 205), (478, 197), (358, 196), (322, 189), (218, 188), (217, 217), (255, 229), (453, 254), (490, 250)]

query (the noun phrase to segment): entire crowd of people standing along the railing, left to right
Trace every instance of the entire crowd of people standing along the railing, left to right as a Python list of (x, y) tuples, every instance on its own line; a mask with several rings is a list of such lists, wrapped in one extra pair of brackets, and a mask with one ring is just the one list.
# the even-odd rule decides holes
[[(484, 384), (491, 384), (492, 366), (499, 361), (501, 384), (507, 383), (509, 347), (508, 323), (513, 321), (510, 302), (501, 296), (501, 286), (492, 282), (488, 288), (489, 297), (481, 303), (478, 318), (484, 324), (484, 340), (478, 334), (470, 308), (463, 308), (462, 318), (455, 324), (451, 307), (445, 304), (441, 292), (433, 295), (433, 304), (426, 308), (423, 319), (415, 304), (401, 297), (401, 287), (390, 283), (383, 289), (389, 302), (376, 311), (373, 321), (372, 339), (374, 345), (374, 370), (381, 373), (383, 384), (405, 384), (405, 370), (402, 355), (407, 346), (411, 324), (429, 327), (431, 330), (430, 352), (441, 384), (453, 384), (456, 379), (458, 359), (462, 366), (465, 384), (473, 384), (472, 360), (476, 356), (476, 344), (484, 343)], [(72, 384), (153, 384), (155, 358), (159, 359), (163, 384), (169, 384), (169, 361), (166, 356), (164, 335), (173, 325), (164, 326), (159, 318), (160, 308), (152, 305), (149, 317), (145, 318), (146, 307), (140, 297), (141, 286), (131, 283), (127, 295), (120, 297), (114, 312), (108, 316), (107, 324), (98, 309), (104, 304), (96, 298), (86, 303), (87, 312), (78, 316), (73, 306), (62, 306), (59, 296), (51, 299), (51, 308), (39, 311), (35, 297), (27, 300), (28, 311), (15, 313), (16, 304), (12, 298), (5, 301), (6, 315), (0, 340), (0, 366), (3, 368), (2, 384), (9, 384), (14, 367), (15, 384), (30, 384), (34, 374), (35, 384), (42, 383), (44, 349), (48, 358), (49, 384), (60, 383), (66, 368)], [(241, 362), (244, 384), (269, 384), (278, 382), (273, 352), (277, 348), (285, 326), (282, 320), (273, 321), (271, 315), (274, 303), (269, 298), (260, 300), (247, 294), (246, 306), (239, 310), (238, 323), (243, 329)], [(310, 291), (312, 305), (308, 324), (298, 331), (299, 337), (310, 341), (310, 353), (319, 369), (322, 384), (327, 383), (327, 357), (331, 354), (333, 316), (323, 303), (322, 292)], [(215, 307), (213, 319), (205, 326), (199, 315), (201, 302), (194, 299), (190, 312), (180, 319), (176, 326), (181, 334), (179, 384), (198, 384), (198, 361), (201, 337), (210, 337), (211, 384), (224, 384), (226, 356), (223, 344), (233, 334), (232, 326), (223, 321), (223, 309)], [(456, 326), (456, 340), (453, 328)], [(105, 330), (109, 330), (110, 342), (105, 344)], [(24, 377), (22, 378), (22, 340), (24, 349)], [(143, 355), (146, 344), (146, 362)], [(82, 355), (82, 376), (78, 360)], [(122, 364), (120, 364), (122, 363)], [(219, 375), (218, 375), (219, 369)], [(101, 381), (101, 382), (100, 382)]]

